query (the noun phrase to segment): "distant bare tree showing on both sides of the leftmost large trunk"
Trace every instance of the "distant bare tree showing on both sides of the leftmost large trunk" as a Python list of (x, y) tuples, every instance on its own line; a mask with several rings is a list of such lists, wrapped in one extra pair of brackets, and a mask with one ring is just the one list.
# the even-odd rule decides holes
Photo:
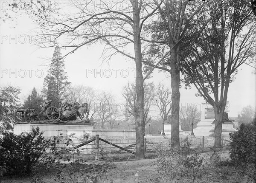
[[(143, 127), (145, 130), (145, 125), (148, 123), (149, 120), (151, 120), (151, 118), (148, 118), (148, 113), (150, 112), (150, 109), (153, 106), (156, 93), (155, 93), (155, 87), (153, 82), (144, 83), (143, 87), (144, 87)], [(136, 118), (137, 93), (136, 93), (135, 84), (128, 83), (128, 85), (123, 88), (122, 96), (126, 101), (126, 106), (125, 106), (126, 117), (129, 118), (132, 116)]]

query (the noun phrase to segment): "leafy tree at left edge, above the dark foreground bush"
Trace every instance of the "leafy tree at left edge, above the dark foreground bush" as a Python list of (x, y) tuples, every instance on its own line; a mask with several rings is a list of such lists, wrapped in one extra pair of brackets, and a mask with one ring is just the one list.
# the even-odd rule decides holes
[(13, 129), (14, 111), (19, 107), (19, 94), (20, 88), (11, 85), (0, 87), (0, 134)]

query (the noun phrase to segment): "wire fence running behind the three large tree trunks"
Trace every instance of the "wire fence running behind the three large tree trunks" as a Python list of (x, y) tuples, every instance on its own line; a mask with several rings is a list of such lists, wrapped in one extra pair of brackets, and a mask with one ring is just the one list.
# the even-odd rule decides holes
[[(120, 153), (125, 152), (122, 151), (122, 148), (127, 149), (131, 152), (136, 152), (136, 138), (135, 137), (114, 137), (114, 136), (104, 136), (99, 137), (103, 140), (107, 141), (92, 141), (86, 145), (79, 147), (79, 151), (82, 154), (95, 154), (96, 149), (100, 148), (104, 152), (115, 152), (120, 151)], [(214, 137), (192, 137), (192, 136), (181, 136), (180, 144), (189, 143), (191, 148), (204, 148), (204, 147), (212, 147), (214, 146)], [(84, 142), (84, 141), (83, 141)], [(79, 144), (83, 143), (79, 139), (73, 139), (72, 146), (66, 146), (66, 148), (79, 146)], [(230, 143), (229, 137), (222, 136), (221, 144), (222, 146), (227, 146)], [(64, 145), (64, 144), (63, 144)], [(63, 148), (64, 146), (59, 144), (57, 145), (59, 148)], [(160, 135), (152, 135), (146, 136), (144, 138), (144, 148), (145, 152), (151, 152), (155, 149), (169, 149), (171, 147), (171, 137), (160, 136)]]

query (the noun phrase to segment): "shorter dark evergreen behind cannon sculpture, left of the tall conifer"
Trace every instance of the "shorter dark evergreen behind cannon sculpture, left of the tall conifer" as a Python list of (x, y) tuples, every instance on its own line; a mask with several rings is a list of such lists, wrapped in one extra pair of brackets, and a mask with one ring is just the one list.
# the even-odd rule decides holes
[(41, 111), (40, 105), (43, 104), (44, 99), (39, 95), (35, 87), (33, 88), (31, 94), (27, 97), (24, 102), (24, 108), (33, 107), (38, 113)]

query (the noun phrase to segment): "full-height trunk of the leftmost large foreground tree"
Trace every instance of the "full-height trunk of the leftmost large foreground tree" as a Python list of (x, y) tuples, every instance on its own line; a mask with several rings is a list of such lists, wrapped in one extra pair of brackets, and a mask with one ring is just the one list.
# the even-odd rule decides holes
[(144, 152), (144, 124), (143, 124), (143, 102), (144, 102), (144, 89), (143, 89), (143, 75), (142, 75), (142, 53), (140, 42), (140, 9), (138, 2), (133, 2), (133, 17), (134, 17), (134, 53), (136, 63), (136, 109), (135, 109), (135, 129), (136, 129), (136, 159), (145, 159)]

